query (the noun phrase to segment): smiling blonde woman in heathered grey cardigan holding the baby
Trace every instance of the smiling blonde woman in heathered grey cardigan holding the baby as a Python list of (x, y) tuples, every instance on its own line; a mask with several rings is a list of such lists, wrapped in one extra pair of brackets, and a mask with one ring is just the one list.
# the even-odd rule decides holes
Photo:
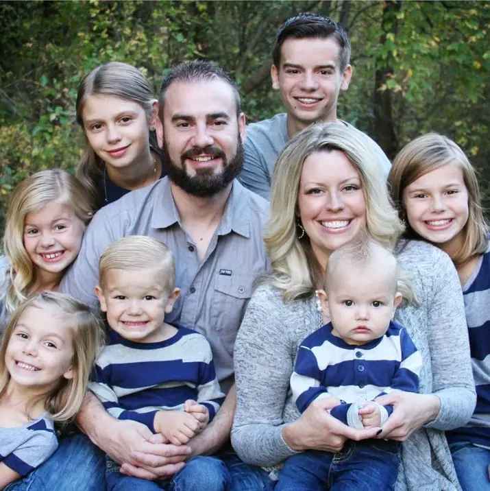
[[(387, 438), (403, 442), (395, 489), (458, 490), (443, 430), (465, 424), (475, 403), (458, 277), (437, 248), (397, 242), (402, 222), (375, 162), (355, 131), (326, 123), (295, 136), (275, 166), (265, 234), (272, 272), (249, 302), (234, 353), (232, 444), (245, 462), (267, 469), (261, 474), (265, 483), (296, 452), (314, 449), (345, 458), (356, 440)], [(347, 427), (322, 400), (300, 416), (289, 393), (298, 344), (322, 324), (314, 292), (330, 252), (360, 230), (386, 246), (396, 243), (397, 260), (411, 274), (418, 300), (402, 305), (395, 320), (421, 352), (420, 393), (378, 398), (394, 407), (382, 429)]]

